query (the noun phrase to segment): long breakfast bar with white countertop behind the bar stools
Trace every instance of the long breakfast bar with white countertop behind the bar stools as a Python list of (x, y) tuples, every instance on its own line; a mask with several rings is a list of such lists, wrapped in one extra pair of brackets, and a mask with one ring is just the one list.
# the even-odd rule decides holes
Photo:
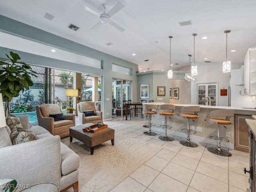
[[(144, 103), (146, 104), (157, 104), (161, 105), (159, 103)], [(186, 128), (187, 122), (185, 119), (180, 118), (177, 116), (178, 111), (180, 108), (184, 106), (193, 106), (192, 104), (174, 104), (175, 110), (174, 110), (174, 116), (171, 116), (168, 118), (168, 125), (171, 125), (172, 128), (168, 129), (167, 134), (171, 134), (174, 136), (186, 138), (186, 134), (181, 131), (182, 128)], [(190, 138), (194, 142), (205, 142), (216, 145), (215, 140), (211, 140), (210, 136), (216, 136), (217, 135), (217, 125), (216, 124), (210, 124), (206, 122), (204, 119), (206, 118), (207, 114), (210, 111), (213, 110), (221, 110), (221, 109), (232, 109), (235, 110), (235, 116), (241, 115), (241, 116), (252, 116), (256, 115), (256, 109), (250, 109), (250, 108), (242, 108), (242, 107), (229, 107), (229, 106), (200, 106), (200, 112), (198, 112), (198, 119), (194, 119), (193, 121), (190, 121), (190, 129), (196, 130), (196, 134), (190, 135)], [(227, 147), (230, 149), (234, 149), (234, 142), (235, 142), (235, 120), (234, 118), (231, 118), (233, 121), (232, 125), (225, 125), (226, 128), (222, 126), (221, 128), (221, 136), (227, 138), (230, 140), (230, 142), (222, 142), (223, 147)], [(164, 129), (160, 128), (159, 126), (164, 124), (164, 116), (160, 116), (158, 114), (152, 116), (152, 123), (156, 124), (156, 126), (152, 127), (152, 130), (158, 131), (158, 132), (164, 132)], [(200, 131), (201, 130), (201, 131)], [(228, 135), (226, 136), (226, 132), (228, 132)], [(238, 134), (238, 133), (237, 133)], [(248, 135), (248, 133), (241, 133), (243, 135)], [(247, 139), (247, 138), (246, 138)]]

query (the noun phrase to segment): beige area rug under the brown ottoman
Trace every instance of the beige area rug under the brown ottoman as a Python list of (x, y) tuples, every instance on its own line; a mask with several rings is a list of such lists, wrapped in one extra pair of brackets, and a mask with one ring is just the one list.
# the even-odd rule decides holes
[(137, 168), (148, 161), (162, 147), (116, 134), (114, 146), (111, 141), (90, 147), (73, 138), (62, 141), (80, 156), (79, 192), (108, 192)]

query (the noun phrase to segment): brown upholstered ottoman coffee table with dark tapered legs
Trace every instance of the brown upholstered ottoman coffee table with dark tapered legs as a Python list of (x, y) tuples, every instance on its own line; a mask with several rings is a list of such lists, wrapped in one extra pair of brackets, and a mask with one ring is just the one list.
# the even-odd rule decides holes
[(109, 127), (106, 127), (98, 132), (84, 132), (83, 128), (92, 126), (94, 123), (86, 123), (82, 125), (77, 125), (69, 128), (70, 142), (72, 142), (73, 137), (77, 140), (80, 140), (84, 144), (90, 146), (91, 155), (94, 152), (94, 146), (111, 140), (112, 145), (114, 145), (115, 130)]

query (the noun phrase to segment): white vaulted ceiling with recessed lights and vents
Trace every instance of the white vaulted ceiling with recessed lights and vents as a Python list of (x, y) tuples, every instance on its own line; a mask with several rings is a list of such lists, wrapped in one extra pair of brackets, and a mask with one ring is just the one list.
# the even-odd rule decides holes
[[(82, 6), (103, 12), (102, 3), (111, 10), (118, 2), (124, 8), (110, 19), (126, 30), (120, 32), (109, 24), (90, 30), (98, 16)], [(139, 71), (168, 70), (170, 39), (172, 38), (172, 66), (176, 70), (188, 65), (188, 54), (195, 62), (222, 62), (226, 60), (226, 34), (228, 34), (228, 60), (242, 64), (246, 51), (256, 46), (256, 0), (0, 0), (0, 14), (67, 38), (85, 46), (136, 63)], [(80, 3), (80, 4), (79, 4)], [(78, 5), (79, 4), (79, 5)], [(52, 21), (44, 18), (48, 12)], [(191, 20), (192, 25), (178, 22)], [(70, 30), (72, 23), (80, 29)], [(1, 34), (0, 34), (1, 35)], [(208, 39), (203, 40), (202, 36)], [(156, 43), (156, 41), (158, 43)], [(111, 46), (107, 46), (112, 42)], [(33, 48), (32, 48), (33, 50)], [(230, 52), (230, 50), (237, 50)], [(29, 50), (27, 50), (29, 52)], [(42, 52), (42, 51), (41, 51)], [(132, 56), (135, 53), (136, 56)], [(39, 54), (39, 52), (38, 52)], [(52, 54), (44, 53), (44, 56)], [(41, 54), (40, 54), (41, 55)], [(51, 57), (51, 56), (50, 56)], [(144, 60), (149, 60), (145, 62)], [(193, 62), (193, 57), (191, 58)]]

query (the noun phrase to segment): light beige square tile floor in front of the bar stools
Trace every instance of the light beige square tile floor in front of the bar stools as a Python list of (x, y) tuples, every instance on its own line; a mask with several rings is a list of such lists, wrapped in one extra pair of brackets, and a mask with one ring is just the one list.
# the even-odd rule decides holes
[(188, 148), (176, 136), (174, 141), (164, 142), (158, 139), (160, 132), (157, 136), (143, 134), (148, 130), (143, 127), (145, 122), (140, 117), (104, 121), (115, 134), (163, 147), (110, 192), (246, 192), (249, 188), (249, 176), (243, 172), (244, 167), (249, 168), (248, 153), (230, 150), (231, 157), (220, 157), (208, 152), (205, 143)]

